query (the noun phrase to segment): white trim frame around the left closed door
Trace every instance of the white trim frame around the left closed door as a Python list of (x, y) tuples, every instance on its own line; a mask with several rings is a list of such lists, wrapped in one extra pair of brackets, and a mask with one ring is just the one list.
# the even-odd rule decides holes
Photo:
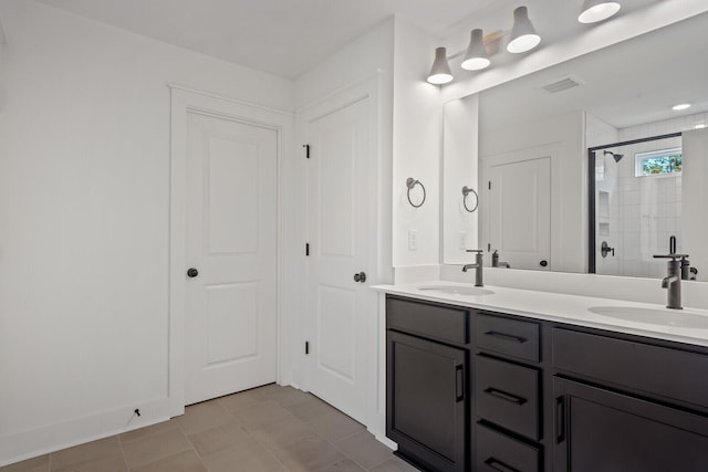
[(280, 384), (290, 384), (290, 358), (283, 348), (283, 192), (284, 162), (292, 147), (293, 115), (208, 92), (168, 84), (170, 88), (170, 186), (169, 186), (169, 352), (168, 390), (170, 416), (185, 411), (185, 238), (187, 188), (187, 113), (197, 112), (273, 129), (278, 134), (278, 371)]

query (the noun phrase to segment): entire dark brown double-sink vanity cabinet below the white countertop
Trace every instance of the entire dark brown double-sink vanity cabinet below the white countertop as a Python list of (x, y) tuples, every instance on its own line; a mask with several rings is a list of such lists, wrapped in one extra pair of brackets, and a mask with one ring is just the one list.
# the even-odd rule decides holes
[(386, 433), (421, 470), (708, 471), (708, 348), (386, 303)]

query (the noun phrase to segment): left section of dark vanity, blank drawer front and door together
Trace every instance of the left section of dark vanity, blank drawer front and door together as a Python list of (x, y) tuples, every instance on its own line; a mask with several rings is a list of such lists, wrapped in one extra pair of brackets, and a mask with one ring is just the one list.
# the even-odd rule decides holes
[(423, 470), (469, 470), (469, 311), (387, 297), (386, 436)]

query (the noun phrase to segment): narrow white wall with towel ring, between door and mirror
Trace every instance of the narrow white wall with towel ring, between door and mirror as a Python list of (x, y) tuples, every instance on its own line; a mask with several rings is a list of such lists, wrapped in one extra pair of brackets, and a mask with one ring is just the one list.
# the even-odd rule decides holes
[[(394, 75), (393, 264), (437, 264), (440, 260), (440, 155), (442, 105), (437, 85), (425, 82), (436, 42), (396, 19)], [(406, 179), (420, 180), (427, 198), (413, 208)], [(412, 192), (412, 198), (419, 197)], [(414, 202), (418, 202), (414, 200)], [(414, 231), (417, 249), (408, 245)]]

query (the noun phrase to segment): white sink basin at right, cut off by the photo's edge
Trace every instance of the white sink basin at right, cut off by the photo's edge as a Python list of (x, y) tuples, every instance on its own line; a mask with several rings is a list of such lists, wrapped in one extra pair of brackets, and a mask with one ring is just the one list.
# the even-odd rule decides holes
[(594, 306), (589, 312), (601, 316), (650, 325), (708, 329), (708, 316), (686, 310), (660, 310), (634, 306)]

